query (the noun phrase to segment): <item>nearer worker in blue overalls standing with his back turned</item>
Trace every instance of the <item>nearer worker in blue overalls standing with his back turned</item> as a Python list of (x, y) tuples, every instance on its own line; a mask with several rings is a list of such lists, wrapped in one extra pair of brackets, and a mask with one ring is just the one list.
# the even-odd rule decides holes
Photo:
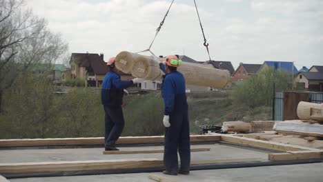
[[(164, 63), (164, 64), (163, 64)], [(177, 67), (182, 64), (175, 55), (166, 57), (160, 68), (164, 75), (162, 96), (164, 98), (165, 130), (164, 174), (177, 175), (190, 173), (190, 129), (188, 123), (188, 105), (186, 101), (185, 79)], [(178, 169), (177, 149), (181, 159)]]

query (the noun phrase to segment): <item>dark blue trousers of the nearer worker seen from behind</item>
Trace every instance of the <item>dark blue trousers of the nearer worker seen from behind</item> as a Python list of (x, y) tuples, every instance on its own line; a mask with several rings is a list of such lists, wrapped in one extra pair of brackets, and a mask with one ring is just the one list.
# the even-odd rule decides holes
[[(187, 106), (186, 106), (187, 107)], [(190, 170), (190, 128), (187, 110), (170, 115), (170, 127), (166, 128), (164, 143), (164, 165), (166, 171), (178, 171), (177, 150), (182, 171)]]

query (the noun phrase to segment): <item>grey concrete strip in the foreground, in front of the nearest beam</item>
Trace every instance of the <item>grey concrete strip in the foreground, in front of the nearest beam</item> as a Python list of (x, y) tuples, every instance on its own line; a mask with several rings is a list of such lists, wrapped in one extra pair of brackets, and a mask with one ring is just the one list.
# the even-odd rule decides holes
[[(198, 170), (193, 171), (189, 176), (166, 176), (175, 181), (217, 181), (217, 182), (320, 182), (323, 179), (323, 163), (299, 164), (299, 165), (276, 165), (256, 168), (235, 168), (222, 170)], [(144, 182), (152, 181), (148, 179), (149, 174), (155, 173), (133, 173), (133, 174), (106, 174), (92, 176), (63, 176), (29, 179), (9, 179), (12, 182), (59, 182), (59, 181), (77, 181), (77, 182), (104, 182), (104, 181), (132, 181)]]

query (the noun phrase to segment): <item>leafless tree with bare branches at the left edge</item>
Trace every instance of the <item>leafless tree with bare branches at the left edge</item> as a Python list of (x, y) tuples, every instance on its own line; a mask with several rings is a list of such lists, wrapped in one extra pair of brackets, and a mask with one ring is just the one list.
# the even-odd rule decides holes
[(3, 91), (35, 63), (55, 63), (68, 45), (23, 0), (0, 0), (0, 112)]

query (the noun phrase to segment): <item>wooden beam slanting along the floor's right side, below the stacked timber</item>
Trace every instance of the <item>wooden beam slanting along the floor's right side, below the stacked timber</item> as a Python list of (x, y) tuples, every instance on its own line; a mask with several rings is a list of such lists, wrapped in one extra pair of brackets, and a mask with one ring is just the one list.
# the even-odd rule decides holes
[(261, 141), (257, 139), (248, 139), (240, 136), (232, 136), (230, 134), (219, 134), (221, 136), (221, 141), (228, 143), (236, 143), (240, 145), (252, 146), (255, 148), (263, 148), (268, 150), (277, 150), (277, 151), (297, 151), (297, 150), (317, 150), (315, 148), (306, 148), (298, 145), (288, 145), (284, 143), (276, 143), (272, 141)]

